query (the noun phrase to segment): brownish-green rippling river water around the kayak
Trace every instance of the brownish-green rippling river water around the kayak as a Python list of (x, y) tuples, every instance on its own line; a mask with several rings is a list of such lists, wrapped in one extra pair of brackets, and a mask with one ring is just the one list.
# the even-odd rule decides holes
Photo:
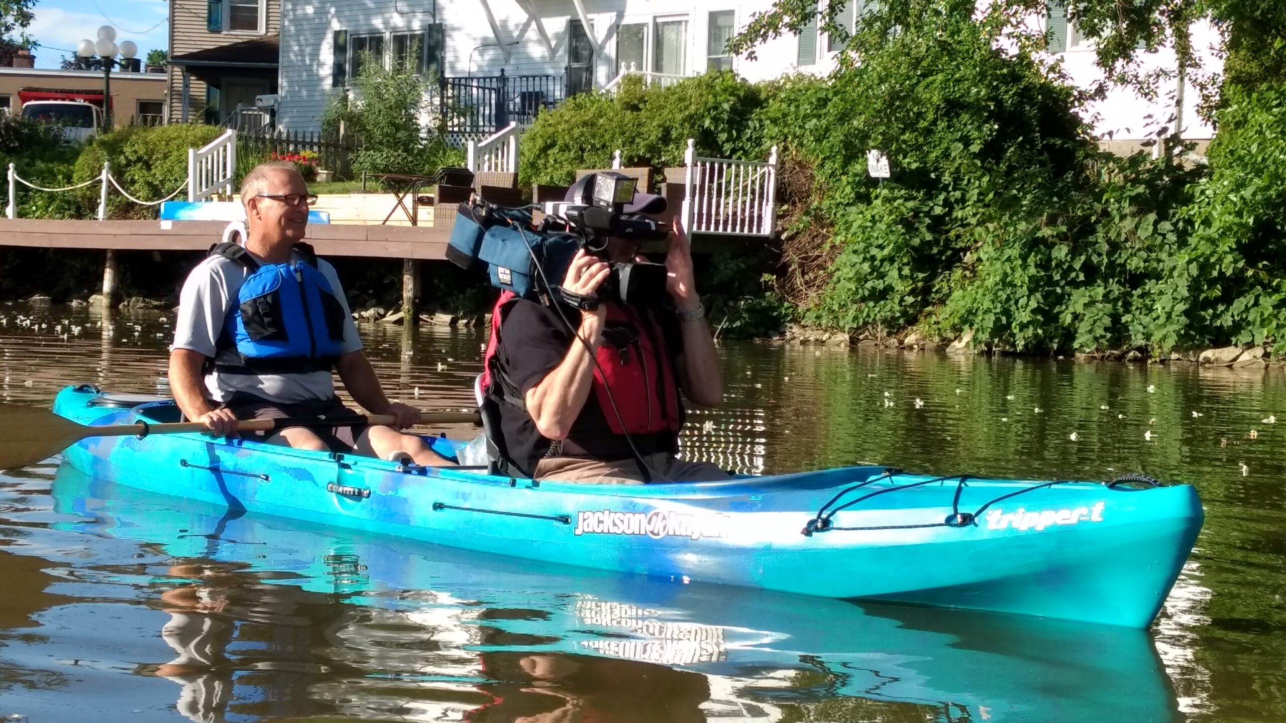
[[(0, 305), (0, 399), (165, 394), (170, 316)], [(481, 332), (363, 336), (391, 396), (468, 407)], [(1286, 719), (1281, 371), (720, 352), (727, 401), (689, 417), (685, 454), (751, 473), (1145, 471), (1199, 488), (1197, 549), (1130, 632), (544, 569), (234, 517), (54, 458), (0, 475), (0, 719)]]

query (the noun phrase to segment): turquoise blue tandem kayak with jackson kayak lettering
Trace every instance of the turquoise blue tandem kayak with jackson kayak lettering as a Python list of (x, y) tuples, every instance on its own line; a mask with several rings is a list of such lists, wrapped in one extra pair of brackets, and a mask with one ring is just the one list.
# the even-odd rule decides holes
[[(171, 401), (64, 389), (82, 425)], [(444, 454), (458, 443), (432, 437)], [(454, 548), (806, 596), (1129, 628), (1156, 616), (1204, 513), (1190, 485), (934, 477), (877, 466), (724, 482), (584, 485), (204, 435), (91, 437), (75, 468), (153, 493)]]

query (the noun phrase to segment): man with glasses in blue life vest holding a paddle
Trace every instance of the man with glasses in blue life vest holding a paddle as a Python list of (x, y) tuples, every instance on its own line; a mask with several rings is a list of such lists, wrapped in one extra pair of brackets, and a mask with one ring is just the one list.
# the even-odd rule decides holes
[(216, 246), (188, 275), (170, 347), (170, 389), (184, 416), (228, 436), (238, 419), (352, 416), (332, 371), (352, 399), (385, 426), (287, 427), (243, 436), (297, 449), (356, 452), (424, 466), (449, 464), (399, 430), (419, 412), (390, 401), (361, 351), (334, 268), (303, 243), (307, 192), (293, 163), (256, 166), (242, 181), (246, 246)]

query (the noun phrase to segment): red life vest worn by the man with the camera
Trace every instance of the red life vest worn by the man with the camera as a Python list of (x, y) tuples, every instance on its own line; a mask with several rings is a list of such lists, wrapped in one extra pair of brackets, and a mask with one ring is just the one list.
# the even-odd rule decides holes
[[(505, 306), (517, 300), (518, 296), (513, 292), (500, 292), (491, 311), (491, 338), (482, 358), (482, 390), (523, 407), (518, 390), (503, 378), (496, 360)], [(608, 302), (603, 340), (594, 356), (598, 360), (594, 368), (594, 396), (613, 434), (679, 432), (683, 416), (679, 410), (678, 378), (670, 364), (661, 327), (652, 311)]]

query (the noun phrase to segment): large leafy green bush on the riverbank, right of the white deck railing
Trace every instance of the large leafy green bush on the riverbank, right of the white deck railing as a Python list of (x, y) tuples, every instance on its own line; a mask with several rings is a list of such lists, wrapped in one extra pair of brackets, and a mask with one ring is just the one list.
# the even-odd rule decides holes
[[(864, 15), (862, 63), (765, 89), (761, 143), (810, 167), (787, 194), (791, 300), (805, 322), (997, 349), (1102, 350), (1154, 342), (1137, 298), (1174, 243), (1193, 174), (1101, 153), (1083, 98), (1022, 51), (1001, 51), (959, 8), (912, 3), (887, 32)], [(907, 6), (900, 6), (905, 19)], [(867, 178), (885, 151), (892, 178)]]

